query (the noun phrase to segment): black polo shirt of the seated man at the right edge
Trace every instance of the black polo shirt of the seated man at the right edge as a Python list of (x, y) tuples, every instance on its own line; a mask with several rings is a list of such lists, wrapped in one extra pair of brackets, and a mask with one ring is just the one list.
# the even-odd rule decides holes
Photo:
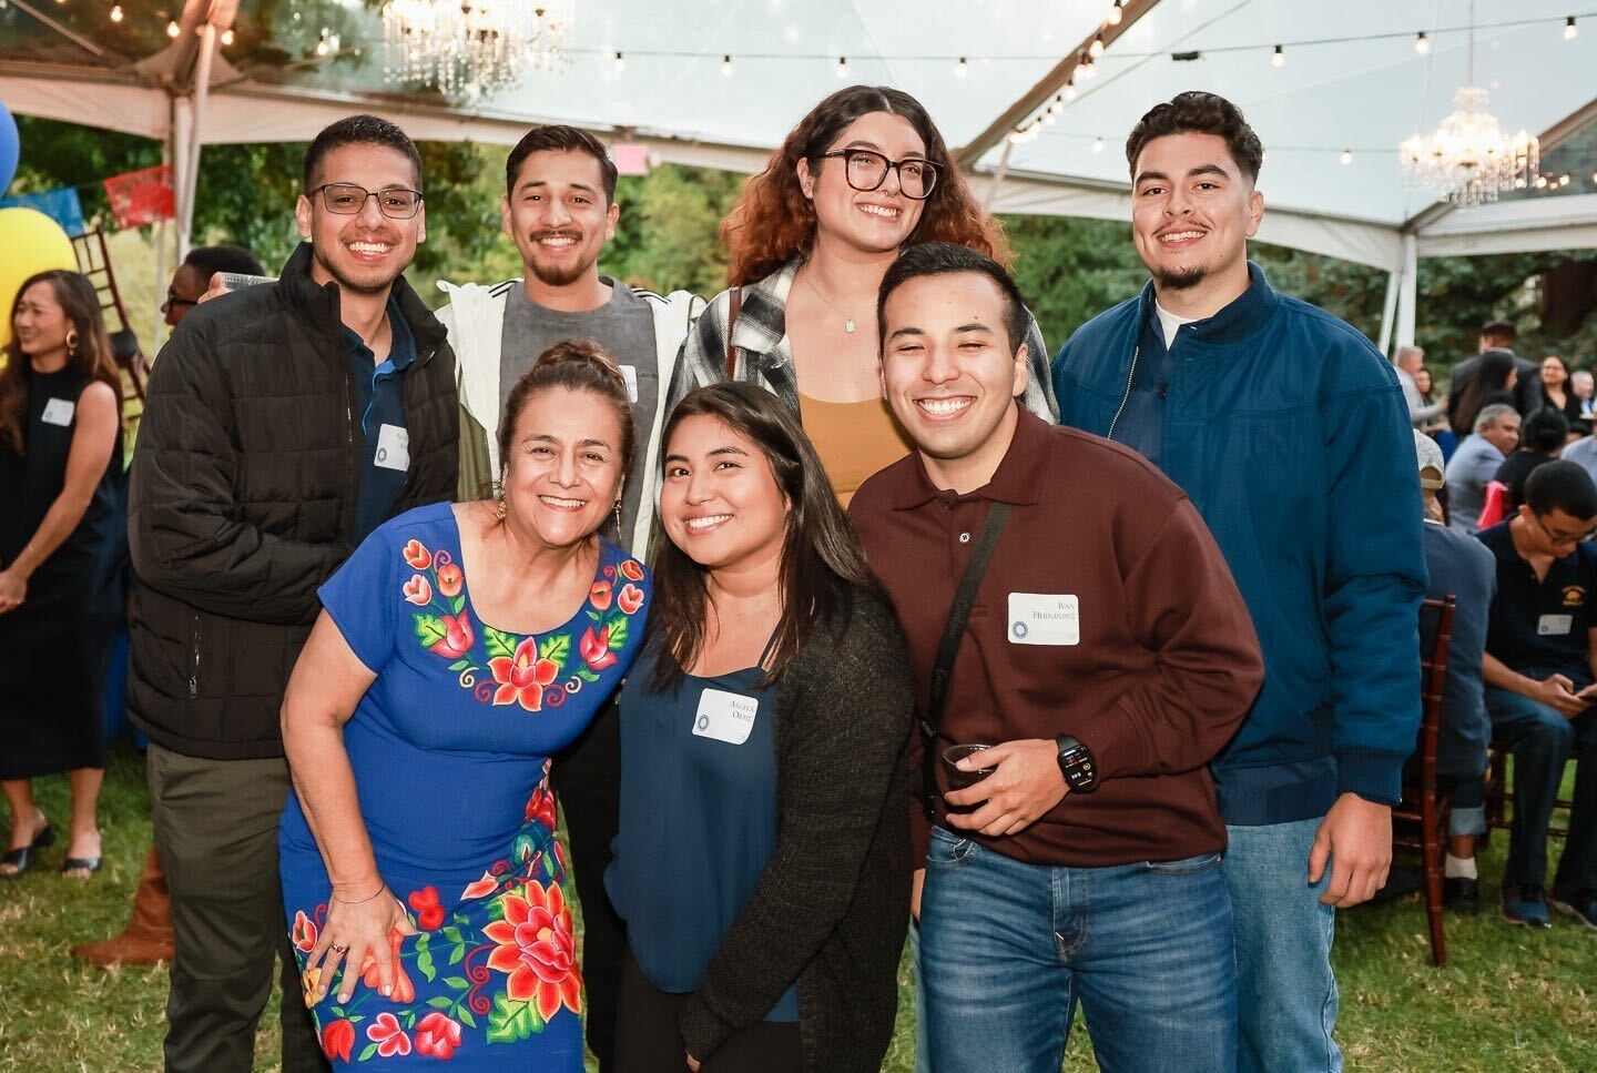
[(1514, 548), (1511, 522), (1476, 536), (1496, 557), (1498, 591), (1487, 623), (1487, 651), (1511, 671), (1568, 675), (1576, 688), (1592, 683), (1587, 631), (1597, 629), (1597, 544), (1581, 541), (1554, 559), (1547, 576)]

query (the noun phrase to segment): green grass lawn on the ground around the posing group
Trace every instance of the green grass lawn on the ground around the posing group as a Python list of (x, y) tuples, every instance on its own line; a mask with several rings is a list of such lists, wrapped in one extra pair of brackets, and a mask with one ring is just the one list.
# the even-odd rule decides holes
[[(53, 819), (65, 819), (64, 778), (40, 779), (35, 792)], [(56, 873), (59, 843), (21, 880), (0, 881), (0, 1070), (160, 1068), (164, 968), (104, 971), (70, 960), (75, 944), (121, 928), (150, 840), (144, 760), (128, 747), (113, 750), (101, 826), (105, 869), (93, 881)], [(1488, 904), (1506, 845), (1496, 832), (1482, 859)], [(1474, 920), (1448, 917), (1447, 939), (1452, 963), (1433, 969), (1418, 896), (1337, 921), (1337, 1035), (1349, 1070), (1597, 1070), (1597, 932), (1563, 917), (1554, 917), (1552, 931), (1528, 932), (1488, 905)], [(885, 1068), (907, 1073), (907, 968), (899, 982), (899, 1027)], [(275, 1017), (276, 1000), (262, 1017), (259, 1070), (276, 1068)], [(1086, 1033), (1075, 1033), (1065, 1068), (1096, 1068)]]

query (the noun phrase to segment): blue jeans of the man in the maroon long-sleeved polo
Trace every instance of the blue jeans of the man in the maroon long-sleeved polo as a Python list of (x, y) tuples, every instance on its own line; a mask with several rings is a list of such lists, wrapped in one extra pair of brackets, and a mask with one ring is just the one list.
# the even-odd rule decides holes
[(1067, 869), (934, 827), (920, 913), (936, 1073), (1059, 1073), (1080, 1000), (1105, 1073), (1231, 1070), (1220, 854)]

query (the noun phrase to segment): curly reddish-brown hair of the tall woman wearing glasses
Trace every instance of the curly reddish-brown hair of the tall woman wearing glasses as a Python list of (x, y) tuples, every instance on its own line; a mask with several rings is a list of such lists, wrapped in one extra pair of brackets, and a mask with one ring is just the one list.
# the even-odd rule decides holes
[(798, 121), (765, 171), (749, 179), (738, 204), (720, 224), (727, 247), (727, 283), (744, 286), (763, 279), (814, 244), (814, 206), (798, 188), (798, 161), (811, 171), (824, 164), (819, 155), (832, 147), (850, 123), (872, 112), (909, 120), (926, 144), (926, 158), (937, 164), (939, 180), (925, 201), (910, 243), (958, 243), (1008, 267), (1009, 241), (997, 217), (982, 211), (965, 182), (942, 134), (920, 101), (891, 86), (838, 89)]

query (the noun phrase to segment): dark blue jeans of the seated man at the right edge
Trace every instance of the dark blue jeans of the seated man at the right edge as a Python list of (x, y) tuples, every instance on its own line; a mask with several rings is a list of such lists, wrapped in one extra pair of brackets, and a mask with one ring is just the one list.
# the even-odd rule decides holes
[(1552, 889), (1560, 897), (1597, 889), (1597, 712), (1567, 719), (1540, 701), (1488, 685), (1487, 714), (1492, 733), (1514, 750), (1514, 819), (1503, 883), (1546, 885), (1547, 824), (1563, 763), (1578, 752), (1575, 811)]

